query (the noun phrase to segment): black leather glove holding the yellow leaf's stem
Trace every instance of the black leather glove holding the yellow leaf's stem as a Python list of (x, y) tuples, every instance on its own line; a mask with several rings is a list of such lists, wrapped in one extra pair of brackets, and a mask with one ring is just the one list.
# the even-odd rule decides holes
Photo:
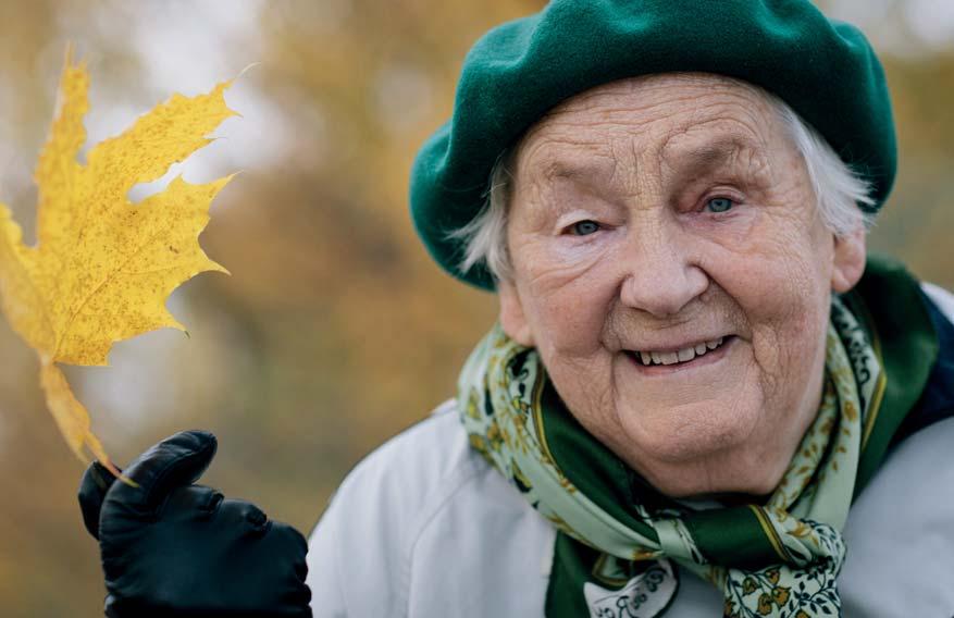
[(138, 487), (99, 464), (86, 470), (79, 506), (99, 540), (109, 618), (311, 617), (305, 537), (191, 484), (215, 448), (201, 431), (160, 442), (126, 470)]

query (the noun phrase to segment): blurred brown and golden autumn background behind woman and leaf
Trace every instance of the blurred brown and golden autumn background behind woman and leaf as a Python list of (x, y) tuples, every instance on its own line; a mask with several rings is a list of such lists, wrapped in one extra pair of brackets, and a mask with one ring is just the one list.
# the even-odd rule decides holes
[[(533, 0), (0, 0), (0, 201), (34, 235), (32, 171), (67, 42), (90, 70), (89, 144), (173, 91), (228, 90), (243, 118), (175, 165), (241, 170), (201, 236), (232, 276), (201, 274), (169, 306), (190, 337), (115, 346), (71, 368), (94, 430), (125, 464), (160, 438), (220, 438), (205, 478), (306, 534), (367, 453), (453, 396), (495, 298), (442, 274), (407, 213), (417, 147), (450, 113), (463, 54)], [(901, 171), (871, 245), (954, 288), (954, 2), (831, 0), (884, 61)], [(0, 320), (0, 615), (101, 616), (83, 466), (46, 411), (35, 355)]]

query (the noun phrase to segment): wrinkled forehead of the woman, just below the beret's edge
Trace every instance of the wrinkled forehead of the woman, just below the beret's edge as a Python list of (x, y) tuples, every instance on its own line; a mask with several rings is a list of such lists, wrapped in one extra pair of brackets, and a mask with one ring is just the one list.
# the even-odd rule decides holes
[(702, 73), (605, 84), (568, 99), (532, 126), (516, 153), (521, 173), (587, 174), (623, 157), (711, 164), (765, 153), (783, 135), (767, 95)]

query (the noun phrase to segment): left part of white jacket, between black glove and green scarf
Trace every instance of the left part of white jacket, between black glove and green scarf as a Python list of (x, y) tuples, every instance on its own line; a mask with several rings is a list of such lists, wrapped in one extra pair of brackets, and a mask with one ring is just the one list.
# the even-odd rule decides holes
[(372, 453), (332, 498), (309, 541), (312, 611), (542, 616), (555, 534), (470, 447), (447, 403)]

